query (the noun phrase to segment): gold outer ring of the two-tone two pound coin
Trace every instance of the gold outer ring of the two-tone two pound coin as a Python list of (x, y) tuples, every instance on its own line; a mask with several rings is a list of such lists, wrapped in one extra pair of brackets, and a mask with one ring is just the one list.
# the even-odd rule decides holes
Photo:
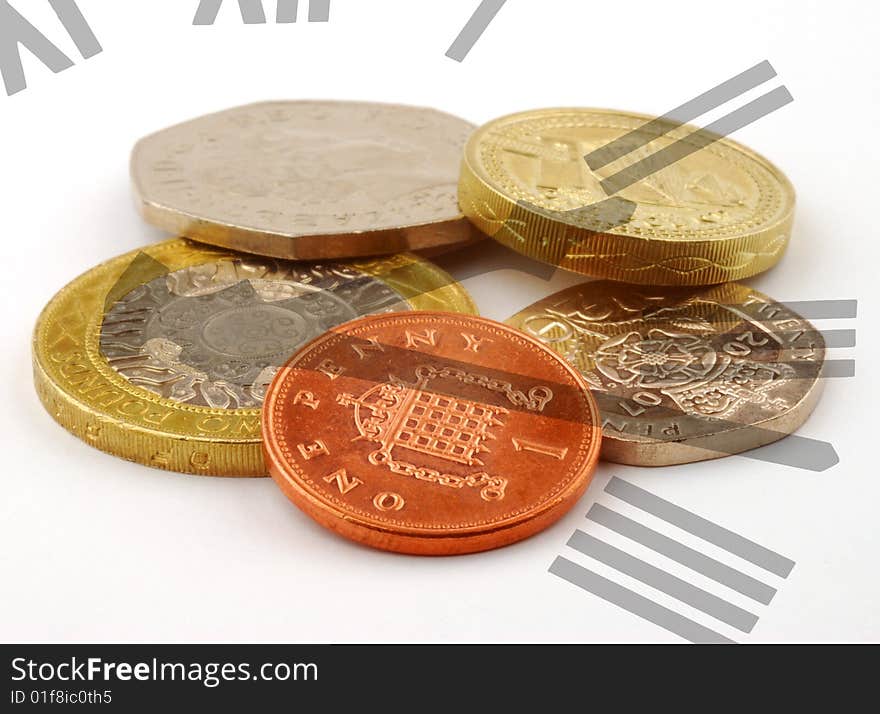
[[(142, 255), (148, 260), (139, 264)], [(127, 380), (101, 352), (105, 305), (122, 297), (115, 294), (121, 283), (149, 282), (157, 275), (150, 266), (159, 264), (171, 272), (235, 260), (258, 258), (173, 239), (114, 258), (64, 287), (43, 310), (33, 337), (34, 383), (49, 414), (86, 443), (147, 466), (207, 476), (267, 475), (259, 408), (216, 409), (163, 398)], [(132, 275), (137, 265), (146, 267)], [(476, 314), (461, 286), (416, 256), (346, 265), (378, 278), (411, 309)]]

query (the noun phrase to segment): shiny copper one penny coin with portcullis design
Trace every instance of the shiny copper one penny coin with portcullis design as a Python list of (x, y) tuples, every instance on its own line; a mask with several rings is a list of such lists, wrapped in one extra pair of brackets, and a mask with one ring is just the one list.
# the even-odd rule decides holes
[(318, 523), (384, 550), (497, 548), (586, 490), (601, 426), (583, 377), (539, 341), (445, 312), (359, 318), (279, 371), (272, 477)]

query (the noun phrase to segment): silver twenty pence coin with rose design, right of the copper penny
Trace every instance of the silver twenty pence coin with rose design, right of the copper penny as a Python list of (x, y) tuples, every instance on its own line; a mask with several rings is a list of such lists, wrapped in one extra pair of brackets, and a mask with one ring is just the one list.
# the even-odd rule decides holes
[(734, 443), (727, 435), (751, 425), (768, 426), (737, 437), (732, 453), (782, 438), (806, 419), (821, 386), (821, 333), (736, 283), (664, 289), (597, 281), (508, 322), (578, 367), (597, 394), (606, 450), (624, 463), (656, 463), (643, 447), (658, 459), (665, 454), (662, 463), (679, 463), (678, 445), (694, 439), (707, 448), (705, 439), (714, 439), (723, 451)]

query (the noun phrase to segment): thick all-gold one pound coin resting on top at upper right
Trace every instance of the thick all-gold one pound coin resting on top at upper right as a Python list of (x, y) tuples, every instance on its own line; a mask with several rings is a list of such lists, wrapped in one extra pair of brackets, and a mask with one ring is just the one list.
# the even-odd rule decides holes
[[(463, 213), (529, 257), (597, 278), (642, 285), (710, 285), (755, 275), (782, 257), (795, 193), (767, 159), (727, 138), (702, 146), (696, 127), (604, 109), (545, 109), (495, 119), (465, 147)], [(657, 128), (661, 127), (661, 128)], [(586, 155), (636, 132), (639, 148), (593, 171)], [(665, 133), (664, 133), (665, 132)], [(644, 140), (644, 141), (643, 141)], [(616, 194), (628, 221), (585, 207), (601, 181), (681, 140), (699, 150)]]

